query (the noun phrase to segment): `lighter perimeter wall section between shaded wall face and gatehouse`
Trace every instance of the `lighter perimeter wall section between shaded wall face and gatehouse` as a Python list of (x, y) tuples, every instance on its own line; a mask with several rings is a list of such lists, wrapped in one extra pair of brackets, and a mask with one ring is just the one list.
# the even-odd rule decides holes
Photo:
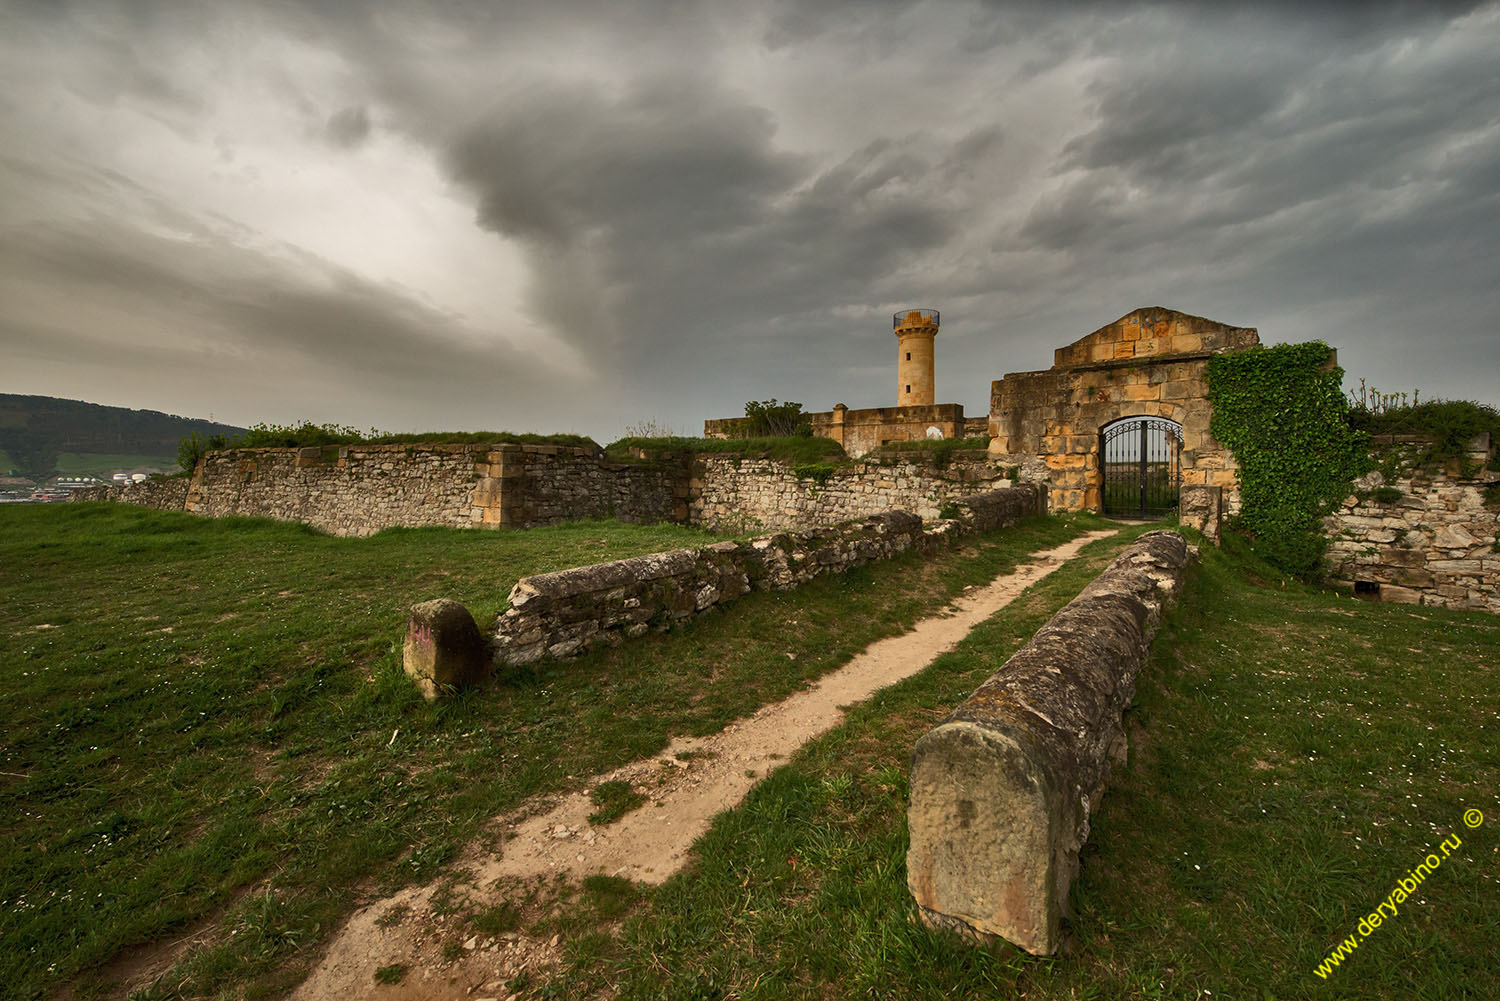
[(776, 531), (836, 525), (885, 510), (938, 518), (942, 507), (984, 491), (1011, 486), (1005, 467), (982, 450), (951, 453), (946, 468), (922, 456), (876, 461), (798, 476), (771, 459), (698, 456), (688, 524), (726, 531)]

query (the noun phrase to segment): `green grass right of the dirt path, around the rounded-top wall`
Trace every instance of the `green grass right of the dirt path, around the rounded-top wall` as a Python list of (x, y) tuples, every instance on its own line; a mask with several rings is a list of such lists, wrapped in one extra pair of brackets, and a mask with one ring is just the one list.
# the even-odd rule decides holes
[(1066, 953), (981, 950), (914, 921), (912, 744), (1116, 545), (808, 744), (618, 939), (574, 924), (542, 996), (1500, 998), (1500, 620), (1320, 593), (1210, 546), (1142, 674)]

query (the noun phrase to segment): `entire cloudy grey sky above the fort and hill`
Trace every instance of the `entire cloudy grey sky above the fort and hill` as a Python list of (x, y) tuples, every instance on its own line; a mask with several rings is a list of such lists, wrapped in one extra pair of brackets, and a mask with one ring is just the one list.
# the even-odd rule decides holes
[(0, 392), (696, 432), (1136, 306), (1500, 404), (1500, 3), (0, 0)]

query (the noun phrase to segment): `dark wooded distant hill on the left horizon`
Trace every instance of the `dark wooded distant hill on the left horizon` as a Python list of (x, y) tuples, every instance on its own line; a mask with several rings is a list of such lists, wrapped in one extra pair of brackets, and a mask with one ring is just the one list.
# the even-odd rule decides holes
[[(32, 479), (98, 474), (111, 465), (176, 465), (177, 443), (195, 431), (204, 437), (244, 434), (244, 428), (156, 410), (0, 393), (0, 453)], [(0, 468), (0, 476), (4, 473)]]

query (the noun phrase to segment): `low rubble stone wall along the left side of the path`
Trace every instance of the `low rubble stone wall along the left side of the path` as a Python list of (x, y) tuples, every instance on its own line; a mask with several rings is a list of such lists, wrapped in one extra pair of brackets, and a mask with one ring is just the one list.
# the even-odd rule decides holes
[(1014, 525), (1041, 513), (1040, 506), (1040, 489), (1018, 486), (962, 501), (956, 519), (927, 527), (916, 515), (885, 512), (837, 528), (528, 576), (510, 591), (510, 608), (495, 624), (495, 663), (564, 657), (650, 629), (669, 629), (752, 590), (792, 588), (822, 573), (912, 549), (927, 552), (966, 533)]

